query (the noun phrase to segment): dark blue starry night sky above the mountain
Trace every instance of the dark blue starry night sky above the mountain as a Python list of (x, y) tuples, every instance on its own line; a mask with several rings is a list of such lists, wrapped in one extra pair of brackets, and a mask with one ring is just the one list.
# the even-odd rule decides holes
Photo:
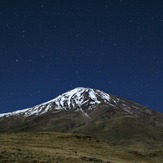
[(163, 111), (162, 0), (1, 0), (0, 112), (91, 87)]

